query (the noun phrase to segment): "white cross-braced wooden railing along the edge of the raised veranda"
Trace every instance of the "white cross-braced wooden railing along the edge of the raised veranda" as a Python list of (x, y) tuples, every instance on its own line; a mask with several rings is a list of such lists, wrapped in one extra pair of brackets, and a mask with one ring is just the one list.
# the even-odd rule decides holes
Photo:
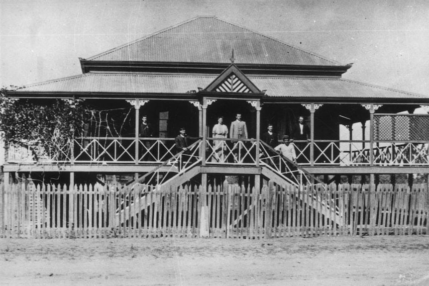
[[(139, 138), (136, 141), (134, 137), (77, 137), (73, 142), (73, 146), (66, 144), (55, 151), (14, 142), (8, 145), (6, 162), (162, 164), (176, 153), (174, 138)], [(256, 139), (207, 138), (207, 162), (255, 165), (256, 142)], [(310, 142), (296, 140), (292, 144), (300, 165), (371, 165), (368, 140), (315, 140), (313, 163)], [(376, 141), (372, 150), (374, 166), (429, 165), (427, 141)]]

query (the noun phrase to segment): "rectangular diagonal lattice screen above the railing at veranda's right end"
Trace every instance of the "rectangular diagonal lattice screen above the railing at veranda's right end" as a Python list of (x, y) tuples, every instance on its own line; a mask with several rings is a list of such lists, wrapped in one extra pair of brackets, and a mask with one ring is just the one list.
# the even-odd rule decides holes
[(374, 114), (374, 140), (429, 140), (429, 115)]

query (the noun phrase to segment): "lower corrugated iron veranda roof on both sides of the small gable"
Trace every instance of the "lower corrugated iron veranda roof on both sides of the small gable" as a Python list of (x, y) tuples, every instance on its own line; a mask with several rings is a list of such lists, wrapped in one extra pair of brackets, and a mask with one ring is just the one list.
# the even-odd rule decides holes
[[(183, 94), (190, 90), (206, 88), (216, 77), (216, 75), (87, 73), (29, 85), (18, 89), (17, 92)], [(341, 78), (249, 76), (248, 79), (259, 90), (266, 90), (266, 95), (279, 98), (428, 98), (425, 95)]]

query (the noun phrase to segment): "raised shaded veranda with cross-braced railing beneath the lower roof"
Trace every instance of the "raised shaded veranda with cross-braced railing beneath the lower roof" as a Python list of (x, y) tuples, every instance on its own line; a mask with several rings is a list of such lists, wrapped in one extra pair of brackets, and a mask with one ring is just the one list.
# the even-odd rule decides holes
[[(309, 121), (311, 136), (308, 141), (295, 140), (293, 145), (299, 165), (311, 174), (375, 174), (376, 179), (372, 183), (377, 183), (378, 174), (427, 173), (429, 166), (429, 117), (413, 114), (415, 105), (266, 102), (266, 107), (261, 108), (252, 106), (260, 104), (259, 101), (204, 99), (206, 105), (201, 108), (198, 101), (192, 100), (167, 104), (172, 104), (170, 107), (162, 100), (144, 104), (138, 103), (138, 99), (127, 101), (134, 104), (134, 108), (125, 100), (108, 101), (108, 105), (120, 107), (119, 111), (98, 110), (95, 112), (98, 115), (93, 116), (87, 128), (76, 130), (75, 136), (69, 138), (60, 150), (34, 148), (25, 142), (8, 144), (5, 172), (56, 172), (61, 166), (63, 174), (87, 171), (106, 174), (118, 170), (144, 174), (176, 154), (174, 138), (181, 126), (187, 127), (194, 141), (202, 139), (198, 156), (203, 165), (258, 167), (257, 154), (265, 148), (261, 146), (260, 137), (266, 125), (274, 124), (281, 137), (293, 132), (291, 129), (300, 114)], [(392, 113), (406, 108), (411, 113)], [(249, 139), (225, 138), (222, 140), (224, 152), (219, 156), (211, 127), (219, 114), (226, 115), (225, 123), (229, 127), (228, 121), (234, 119), (236, 110), (246, 118)], [(376, 113), (376, 110), (382, 113)], [(142, 114), (152, 122), (152, 137), (140, 137), (138, 134)], [(356, 138), (353, 124), (359, 122), (361, 130), (354, 133), (361, 138)], [(348, 139), (340, 136), (341, 125), (349, 129)], [(365, 132), (368, 128), (369, 132)], [(369, 136), (366, 135), (368, 133)], [(235, 149), (239, 154), (234, 159), (231, 156)], [(68, 183), (73, 183), (73, 180)], [(338, 179), (336, 183), (339, 183)]]

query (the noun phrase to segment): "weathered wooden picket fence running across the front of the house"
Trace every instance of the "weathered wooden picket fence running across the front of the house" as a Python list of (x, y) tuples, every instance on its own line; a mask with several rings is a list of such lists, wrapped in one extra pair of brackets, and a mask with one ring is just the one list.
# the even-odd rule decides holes
[[(412, 188), (319, 184), (303, 189), (269, 185), (258, 190), (224, 184), (207, 191), (196, 185), (163, 190), (100, 184), (2, 185), (0, 235), (199, 237), (203, 226), (210, 237), (250, 239), (429, 233), (427, 184)], [(132, 204), (141, 197), (140, 203)], [(327, 201), (336, 207), (327, 208)], [(208, 208), (204, 217), (203, 206)], [(123, 218), (116, 220), (121, 208)]]

